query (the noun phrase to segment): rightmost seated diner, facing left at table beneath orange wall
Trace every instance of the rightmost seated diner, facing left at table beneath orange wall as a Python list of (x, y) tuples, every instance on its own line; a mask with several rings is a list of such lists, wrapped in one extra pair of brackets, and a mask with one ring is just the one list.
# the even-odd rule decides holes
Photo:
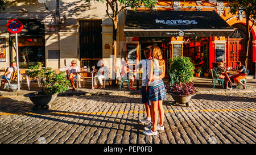
[(237, 62), (238, 65), (238, 70), (236, 69), (232, 69), (235, 72), (238, 72), (238, 74), (231, 76), (231, 79), (234, 79), (234, 82), (236, 83), (240, 83), (243, 86), (243, 89), (246, 89), (245, 85), (240, 81), (241, 79), (245, 79), (247, 77), (246, 74), (246, 68), (245, 66), (242, 65), (242, 62), (238, 61)]

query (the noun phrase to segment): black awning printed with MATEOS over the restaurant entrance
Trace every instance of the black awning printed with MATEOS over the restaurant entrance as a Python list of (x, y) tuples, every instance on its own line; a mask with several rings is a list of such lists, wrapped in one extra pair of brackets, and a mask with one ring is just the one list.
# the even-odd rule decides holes
[(125, 36), (232, 36), (234, 29), (215, 11), (127, 10)]

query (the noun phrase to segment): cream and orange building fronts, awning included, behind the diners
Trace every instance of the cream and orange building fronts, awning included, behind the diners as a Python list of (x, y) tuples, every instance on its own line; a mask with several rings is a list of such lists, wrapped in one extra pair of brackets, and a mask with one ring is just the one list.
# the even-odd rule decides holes
[[(26, 69), (43, 62), (53, 69), (76, 60), (80, 68), (104, 59), (112, 63), (112, 20), (101, 2), (10, 1), (0, 14), (0, 68), (16, 60), (15, 37), (6, 29), (8, 20), (22, 21), (18, 35), (19, 65)], [(147, 45), (158, 45), (164, 60), (188, 56), (204, 60), (212, 69), (225, 60), (236, 68), (245, 62), (246, 18), (232, 15), (227, 1), (158, 1), (153, 11), (122, 11), (118, 18), (117, 61), (144, 58)], [(26, 9), (25, 9), (26, 8)], [(250, 20), (250, 26), (253, 19)], [(255, 76), (256, 28), (251, 31), (248, 66)], [(166, 63), (167, 64), (167, 63)], [(168, 67), (168, 66), (167, 66)]]

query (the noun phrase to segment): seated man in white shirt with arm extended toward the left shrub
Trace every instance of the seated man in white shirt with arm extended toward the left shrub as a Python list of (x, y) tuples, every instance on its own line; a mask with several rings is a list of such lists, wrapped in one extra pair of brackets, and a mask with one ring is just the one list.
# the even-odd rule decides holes
[(73, 91), (76, 90), (75, 83), (73, 81), (74, 76), (76, 76), (76, 73), (80, 71), (80, 68), (76, 65), (76, 61), (72, 60), (71, 65), (65, 66), (65, 68), (60, 68), (60, 72), (66, 71), (67, 72), (67, 78), (71, 82), (71, 85), (73, 87)]

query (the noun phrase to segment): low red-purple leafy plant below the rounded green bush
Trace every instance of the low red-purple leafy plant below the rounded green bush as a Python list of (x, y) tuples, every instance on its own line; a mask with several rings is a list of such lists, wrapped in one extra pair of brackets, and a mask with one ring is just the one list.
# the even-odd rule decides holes
[(193, 82), (188, 83), (174, 83), (173, 85), (166, 86), (166, 92), (175, 95), (193, 95), (196, 93)]

